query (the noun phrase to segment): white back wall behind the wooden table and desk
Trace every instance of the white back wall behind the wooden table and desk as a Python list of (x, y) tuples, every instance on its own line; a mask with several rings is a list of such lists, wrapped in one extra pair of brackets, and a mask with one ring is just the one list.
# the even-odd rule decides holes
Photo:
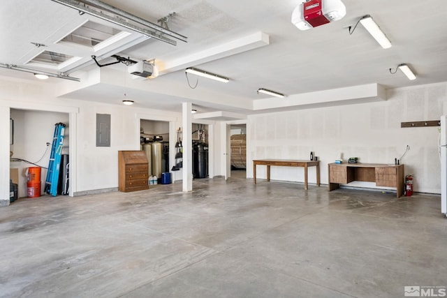
[[(400, 128), (401, 122), (438, 120), (446, 110), (447, 83), (388, 91), (378, 103), (323, 107), (250, 116), (247, 124), (247, 177), (253, 177), (256, 158), (308, 159), (310, 151), (321, 160), (321, 182), (328, 183), (328, 163), (342, 153), (362, 163), (394, 163), (406, 145), (405, 174), (414, 175), (418, 192), (440, 193), (438, 127)], [(265, 178), (265, 167), (257, 169)], [(304, 181), (303, 170), (272, 167), (271, 179)], [(315, 183), (315, 168), (309, 183)]]

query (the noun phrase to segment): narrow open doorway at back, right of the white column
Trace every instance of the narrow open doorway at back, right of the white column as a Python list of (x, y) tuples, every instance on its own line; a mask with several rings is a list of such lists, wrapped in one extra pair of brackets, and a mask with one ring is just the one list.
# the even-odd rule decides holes
[(247, 178), (247, 125), (230, 126), (231, 177)]

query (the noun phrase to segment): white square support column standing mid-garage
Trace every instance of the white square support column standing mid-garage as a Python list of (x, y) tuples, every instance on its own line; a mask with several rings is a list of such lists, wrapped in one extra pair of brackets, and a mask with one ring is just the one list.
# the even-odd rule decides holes
[(182, 103), (183, 191), (193, 190), (192, 104)]

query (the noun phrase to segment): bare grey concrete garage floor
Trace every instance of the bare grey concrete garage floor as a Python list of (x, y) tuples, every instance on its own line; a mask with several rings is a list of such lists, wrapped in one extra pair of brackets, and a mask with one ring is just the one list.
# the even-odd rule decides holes
[(0, 297), (404, 297), (447, 285), (439, 195), (197, 179), (0, 209)]

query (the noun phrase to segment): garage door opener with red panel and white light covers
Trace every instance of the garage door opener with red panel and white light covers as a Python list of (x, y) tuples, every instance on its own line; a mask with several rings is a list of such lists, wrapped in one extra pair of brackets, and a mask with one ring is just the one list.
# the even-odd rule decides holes
[(346, 6), (341, 0), (307, 0), (293, 10), (292, 24), (307, 30), (341, 20), (345, 15)]

